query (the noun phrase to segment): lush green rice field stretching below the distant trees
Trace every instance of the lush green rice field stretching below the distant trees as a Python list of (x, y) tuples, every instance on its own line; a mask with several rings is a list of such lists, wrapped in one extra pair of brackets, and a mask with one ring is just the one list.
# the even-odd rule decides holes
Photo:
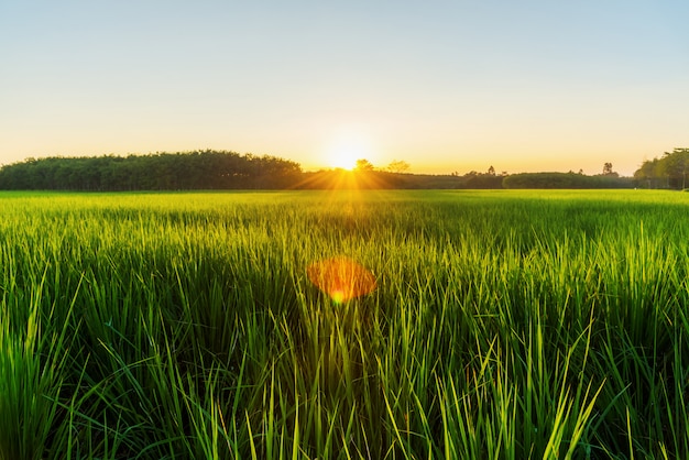
[(4, 193), (0, 236), (2, 460), (689, 458), (687, 194)]

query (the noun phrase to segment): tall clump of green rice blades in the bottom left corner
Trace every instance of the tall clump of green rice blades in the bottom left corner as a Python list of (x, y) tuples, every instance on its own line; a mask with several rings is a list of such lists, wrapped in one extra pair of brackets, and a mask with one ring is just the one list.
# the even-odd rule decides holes
[[(15, 296), (14, 280), (9, 281), (0, 310), (0, 458), (41, 459), (68, 436), (56, 434), (68, 416), (57, 401), (72, 390), (70, 335), (78, 328), (70, 330), (68, 324), (73, 304), (65, 313), (67, 322), (59, 326), (53, 325), (54, 305), (42, 308), (46, 272), (33, 280), (31, 292), (23, 292), (25, 297)], [(23, 309), (25, 322), (17, 325), (12, 311)]]

